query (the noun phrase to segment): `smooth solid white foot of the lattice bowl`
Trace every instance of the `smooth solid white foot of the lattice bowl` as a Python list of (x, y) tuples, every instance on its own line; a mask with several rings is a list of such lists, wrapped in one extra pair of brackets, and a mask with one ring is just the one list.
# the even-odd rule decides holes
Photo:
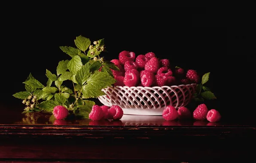
[(125, 115), (162, 115), (164, 108), (161, 109), (132, 109), (122, 108)]

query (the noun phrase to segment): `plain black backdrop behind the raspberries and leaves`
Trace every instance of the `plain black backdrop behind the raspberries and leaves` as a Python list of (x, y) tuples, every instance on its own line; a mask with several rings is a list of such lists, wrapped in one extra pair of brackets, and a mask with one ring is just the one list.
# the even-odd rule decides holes
[(108, 52), (101, 55), (109, 60), (123, 50), (136, 55), (152, 51), (172, 65), (201, 75), (210, 72), (207, 86), (217, 97), (212, 107), (226, 119), (254, 121), (255, 33), (250, 14), (88, 8), (79, 13), (70, 12), (68, 5), (60, 10), (15, 8), (9, 11), (13, 15), (3, 17), (1, 102), (20, 103), (12, 94), (24, 91), (22, 82), (30, 72), (46, 84), (46, 69), (55, 73), (60, 60), (70, 59), (59, 46), (75, 47), (74, 39), (82, 35), (91, 41), (105, 38)]

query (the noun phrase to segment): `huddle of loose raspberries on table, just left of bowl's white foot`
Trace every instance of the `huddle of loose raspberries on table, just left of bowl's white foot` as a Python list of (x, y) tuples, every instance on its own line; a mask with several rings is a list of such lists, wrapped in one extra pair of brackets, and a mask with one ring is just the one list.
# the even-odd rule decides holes
[(120, 106), (92, 106), (89, 118), (93, 121), (104, 119), (119, 120), (122, 118), (124, 112)]

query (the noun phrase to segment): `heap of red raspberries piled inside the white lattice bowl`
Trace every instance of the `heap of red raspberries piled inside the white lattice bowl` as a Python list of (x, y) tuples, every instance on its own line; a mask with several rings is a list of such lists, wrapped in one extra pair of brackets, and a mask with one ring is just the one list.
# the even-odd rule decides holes
[(116, 79), (114, 86), (172, 86), (199, 82), (199, 75), (193, 69), (170, 66), (168, 59), (159, 59), (149, 52), (136, 57), (134, 52), (122, 51), (119, 59), (111, 60), (119, 70), (111, 69)]

